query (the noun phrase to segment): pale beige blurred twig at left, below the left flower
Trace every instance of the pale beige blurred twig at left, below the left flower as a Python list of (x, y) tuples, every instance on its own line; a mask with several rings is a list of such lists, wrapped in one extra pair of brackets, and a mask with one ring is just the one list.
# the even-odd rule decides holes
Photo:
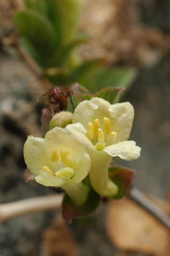
[(62, 195), (40, 196), (13, 203), (0, 204), (0, 222), (19, 215), (42, 212), (61, 207)]

